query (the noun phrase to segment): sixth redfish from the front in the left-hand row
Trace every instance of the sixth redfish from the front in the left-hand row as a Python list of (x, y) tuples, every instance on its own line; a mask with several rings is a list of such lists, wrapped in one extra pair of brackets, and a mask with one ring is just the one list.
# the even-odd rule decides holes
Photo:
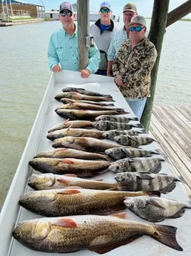
[(81, 151), (100, 153), (104, 152), (107, 148), (121, 147), (116, 142), (106, 142), (91, 137), (72, 137), (66, 136), (53, 141), (53, 148), (74, 148)]

